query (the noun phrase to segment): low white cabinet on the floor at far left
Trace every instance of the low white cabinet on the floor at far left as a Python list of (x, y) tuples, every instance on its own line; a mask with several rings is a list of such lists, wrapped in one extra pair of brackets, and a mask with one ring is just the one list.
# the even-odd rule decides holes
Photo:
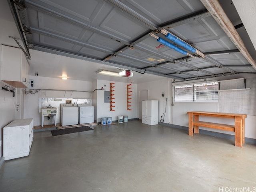
[(34, 137), (33, 119), (16, 119), (4, 127), (4, 160), (28, 156)]

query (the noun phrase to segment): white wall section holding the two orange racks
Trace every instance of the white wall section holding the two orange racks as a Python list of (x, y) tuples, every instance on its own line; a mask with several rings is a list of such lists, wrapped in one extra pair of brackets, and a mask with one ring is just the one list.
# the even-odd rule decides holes
[(97, 90), (97, 122), (101, 122), (103, 117), (112, 117), (112, 121), (118, 120), (119, 115), (128, 115), (128, 119), (138, 118), (137, 112), (137, 84), (132, 84), (131, 111), (127, 110), (127, 84), (121, 82), (112, 82), (106, 80), (97, 80), (97, 88), (103, 87), (110, 91), (110, 83), (114, 84), (114, 110), (110, 111), (110, 103), (104, 102), (104, 90)]

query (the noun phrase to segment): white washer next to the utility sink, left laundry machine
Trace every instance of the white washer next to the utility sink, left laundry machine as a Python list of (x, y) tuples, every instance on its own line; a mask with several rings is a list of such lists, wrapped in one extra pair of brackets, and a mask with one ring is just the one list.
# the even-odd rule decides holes
[(60, 104), (60, 124), (62, 126), (78, 124), (78, 107), (76, 104)]

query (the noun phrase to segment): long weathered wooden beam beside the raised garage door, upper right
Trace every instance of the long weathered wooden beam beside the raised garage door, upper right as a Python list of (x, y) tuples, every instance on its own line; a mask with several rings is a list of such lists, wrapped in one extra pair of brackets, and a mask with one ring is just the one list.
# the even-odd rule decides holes
[(238, 32), (234, 28), (232, 22), (224, 12), (222, 6), (218, 2), (218, 0), (200, 0), (202, 4), (206, 7), (206, 9), (210, 12), (212, 17), (216, 20), (216, 22), (220, 25), (220, 27), (224, 30), (230, 40), (235, 44), (235, 46), (240, 50), (242, 55), (246, 58), (246, 60), (256, 69), (256, 63), (253, 60), (252, 56), (249, 54), (246, 49), (244, 42), (240, 38)]

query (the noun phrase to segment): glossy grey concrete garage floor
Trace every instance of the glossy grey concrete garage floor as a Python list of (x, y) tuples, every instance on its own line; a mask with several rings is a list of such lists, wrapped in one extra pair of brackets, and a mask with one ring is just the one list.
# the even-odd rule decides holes
[(0, 192), (256, 191), (256, 146), (140, 120), (52, 136), (5, 161)]

